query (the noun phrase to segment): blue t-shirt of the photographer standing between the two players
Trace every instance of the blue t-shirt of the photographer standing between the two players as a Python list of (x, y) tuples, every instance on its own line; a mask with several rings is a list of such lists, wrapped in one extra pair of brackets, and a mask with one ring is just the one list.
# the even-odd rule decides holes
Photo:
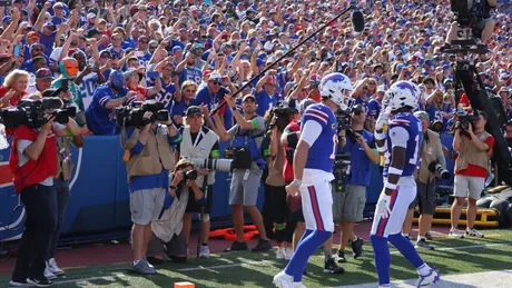
[[(371, 147), (375, 147), (375, 141), (373, 135), (366, 130), (356, 131), (361, 136), (363, 136), (364, 141)], [(347, 175), (345, 177), (346, 185), (361, 185), (361, 186), (368, 186), (370, 183), (370, 158), (366, 156), (366, 151), (364, 147), (361, 146), (356, 140), (355, 137), (352, 139), (351, 137), (346, 138), (346, 145), (343, 147), (343, 152), (351, 153), (351, 168), (347, 170)]]

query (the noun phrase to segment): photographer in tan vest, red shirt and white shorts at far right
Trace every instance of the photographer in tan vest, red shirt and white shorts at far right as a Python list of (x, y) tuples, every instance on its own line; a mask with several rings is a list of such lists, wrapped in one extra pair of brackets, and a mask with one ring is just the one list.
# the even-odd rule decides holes
[(467, 197), (467, 226), (466, 235), (483, 237), (484, 235), (474, 229), (476, 219), (476, 200), (485, 186), (488, 177), (489, 159), (492, 155), (494, 137), (488, 133), (485, 123), (488, 115), (479, 110), (474, 121), (464, 121), (459, 117), (455, 123), (456, 130), (453, 138), (453, 150), (459, 153), (455, 160), (455, 179), (452, 205), (452, 228), (449, 236), (463, 238), (464, 234), (459, 231), (459, 219), (461, 218), (462, 205)]

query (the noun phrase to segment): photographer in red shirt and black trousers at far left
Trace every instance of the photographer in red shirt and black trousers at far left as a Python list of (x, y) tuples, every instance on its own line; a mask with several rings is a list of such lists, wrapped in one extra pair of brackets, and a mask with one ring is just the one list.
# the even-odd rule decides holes
[(58, 215), (53, 187), (53, 176), (58, 171), (56, 137), (78, 136), (80, 129), (70, 118), (66, 126), (53, 122), (55, 116), (46, 115), (45, 118), (47, 123), (40, 128), (21, 125), (13, 129), (9, 167), (14, 175), (14, 190), (20, 193), (27, 219), (11, 286), (51, 285), (43, 272)]

